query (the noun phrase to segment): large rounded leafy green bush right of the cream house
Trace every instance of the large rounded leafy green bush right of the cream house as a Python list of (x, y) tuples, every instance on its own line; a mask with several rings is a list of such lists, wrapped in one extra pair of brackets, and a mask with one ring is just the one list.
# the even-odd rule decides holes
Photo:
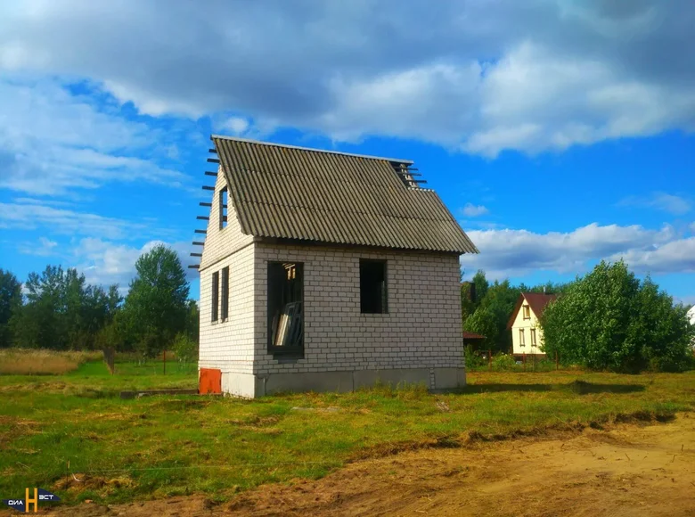
[(693, 335), (685, 313), (649, 277), (640, 283), (622, 260), (601, 261), (545, 308), (544, 351), (593, 369), (682, 369)]

